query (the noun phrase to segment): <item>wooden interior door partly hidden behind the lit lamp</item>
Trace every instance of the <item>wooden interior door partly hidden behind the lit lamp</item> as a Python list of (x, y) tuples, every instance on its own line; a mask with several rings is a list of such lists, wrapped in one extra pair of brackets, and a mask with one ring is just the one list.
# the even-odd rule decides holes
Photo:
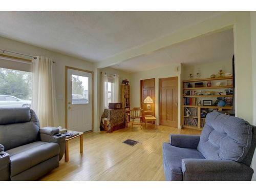
[(155, 97), (155, 78), (153, 79), (144, 79), (144, 80), (141, 80), (140, 81), (140, 90), (141, 90), (141, 93), (140, 93), (140, 102), (141, 102), (141, 109), (143, 110), (143, 113), (142, 113), (142, 121), (145, 122), (145, 113), (144, 111), (147, 111), (147, 104), (144, 103), (144, 99), (147, 97), (147, 96), (150, 96), (154, 103), (151, 103), (151, 110), (154, 111), (153, 115), (155, 116), (155, 100), (156, 100), (156, 97)]

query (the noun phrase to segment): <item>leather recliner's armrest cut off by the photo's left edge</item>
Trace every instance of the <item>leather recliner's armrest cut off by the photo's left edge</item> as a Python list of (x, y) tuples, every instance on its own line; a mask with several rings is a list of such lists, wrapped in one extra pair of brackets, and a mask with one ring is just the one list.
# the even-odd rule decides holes
[(4, 146), (0, 144), (0, 181), (10, 180), (9, 164), (10, 155), (4, 152)]

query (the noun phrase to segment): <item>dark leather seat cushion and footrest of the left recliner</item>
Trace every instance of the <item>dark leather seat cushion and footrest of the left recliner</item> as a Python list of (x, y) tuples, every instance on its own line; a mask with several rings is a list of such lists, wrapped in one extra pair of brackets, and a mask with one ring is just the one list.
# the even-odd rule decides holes
[(57, 143), (37, 141), (6, 151), (10, 155), (11, 177), (59, 154)]

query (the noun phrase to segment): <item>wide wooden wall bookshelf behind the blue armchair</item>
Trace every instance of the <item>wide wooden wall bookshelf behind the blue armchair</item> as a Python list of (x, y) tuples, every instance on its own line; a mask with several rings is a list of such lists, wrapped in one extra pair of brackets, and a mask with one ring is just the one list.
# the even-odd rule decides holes
[[(207, 81), (211, 81), (212, 84), (214, 84), (217, 81), (223, 81), (225, 80), (232, 80), (232, 77), (219, 77), (219, 78), (204, 78), (204, 79), (191, 79), (191, 80), (184, 80), (183, 81), (183, 105), (182, 105), (182, 127), (186, 127), (189, 129), (197, 129), (197, 130), (202, 130), (203, 125), (205, 123), (205, 118), (201, 118), (201, 111), (202, 110), (213, 110), (217, 109), (218, 111), (223, 111), (223, 110), (232, 110), (233, 106), (232, 105), (225, 105), (225, 106), (213, 106), (213, 105), (198, 105), (198, 99), (202, 100), (210, 100), (209, 98), (212, 99), (217, 99), (218, 97), (223, 97), (226, 99), (231, 99), (233, 100), (233, 95), (219, 95), (214, 92), (214, 95), (198, 95), (199, 93), (195, 93), (195, 91), (204, 91), (204, 92), (209, 92), (209, 91), (214, 91), (214, 90), (221, 90), (221, 92), (224, 92), (225, 89), (228, 88), (233, 88), (232, 83), (231, 85), (226, 85), (226, 86), (212, 86), (212, 87), (207, 87)], [(203, 87), (195, 87), (195, 82), (203, 82)], [(187, 87), (187, 84), (190, 83), (192, 84), (191, 88)], [(188, 92), (190, 91), (190, 92)], [(189, 95), (187, 95), (189, 93)], [(190, 95), (190, 93), (192, 93)], [(195, 94), (194, 94), (195, 93)], [(222, 93), (223, 94), (223, 93)], [(205, 99), (203, 99), (205, 98)], [(189, 103), (187, 101), (189, 100)], [(214, 102), (212, 102), (213, 104)], [(231, 102), (230, 102), (231, 103)], [(230, 104), (228, 103), (228, 104)], [(202, 103), (203, 104), (203, 103)], [(189, 117), (186, 117), (186, 112), (185, 108), (191, 112), (191, 115)]]

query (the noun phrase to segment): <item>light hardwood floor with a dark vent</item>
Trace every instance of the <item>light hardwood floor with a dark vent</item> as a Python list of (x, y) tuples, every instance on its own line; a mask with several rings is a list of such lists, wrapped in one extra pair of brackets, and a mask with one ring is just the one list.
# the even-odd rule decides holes
[[(144, 123), (143, 123), (144, 126)], [(162, 143), (169, 134), (194, 134), (201, 131), (178, 130), (168, 126), (139, 125), (115, 131), (86, 133), (83, 136), (83, 155), (79, 153), (79, 138), (70, 141), (70, 159), (60, 161), (59, 167), (41, 178), (42, 181), (162, 181)], [(139, 141), (129, 146), (122, 141)]]

